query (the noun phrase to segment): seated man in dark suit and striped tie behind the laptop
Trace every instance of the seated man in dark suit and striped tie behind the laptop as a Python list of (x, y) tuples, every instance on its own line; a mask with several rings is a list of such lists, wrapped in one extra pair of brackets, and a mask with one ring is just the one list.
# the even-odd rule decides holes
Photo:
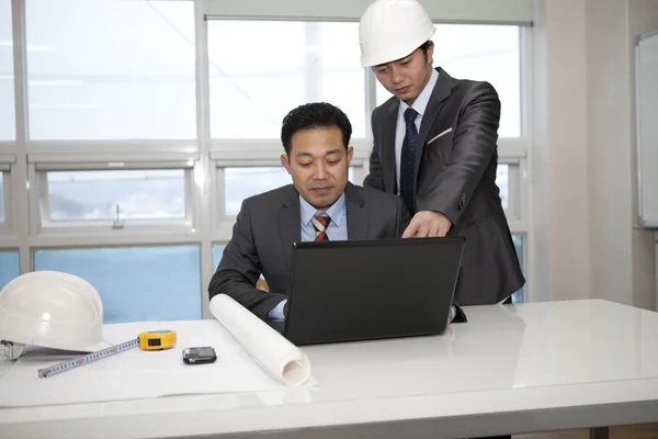
[[(211, 299), (227, 294), (263, 320), (284, 318), (294, 241), (402, 235), (410, 215), (401, 198), (348, 181), (351, 135), (345, 114), (328, 103), (302, 105), (285, 116), (281, 164), (293, 184), (242, 202), (208, 285)], [(261, 273), (270, 291), (257, 289)], [(464, 319), (453, 306), (450, 320), (455, 315)]]

